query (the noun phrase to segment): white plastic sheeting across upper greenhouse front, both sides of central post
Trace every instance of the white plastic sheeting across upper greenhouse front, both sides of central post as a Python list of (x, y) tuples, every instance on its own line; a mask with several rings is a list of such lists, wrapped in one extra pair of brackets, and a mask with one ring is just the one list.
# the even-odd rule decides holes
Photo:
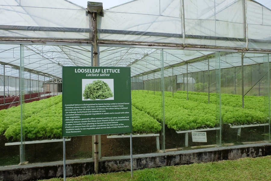
[[(67, 0), (1, 0), (0, 17), (0, 38), (92, 40), (91, 13)], [(270, 51), (270, 17), (253, 0), (134, 0), (98, 15), (98, 39)]]

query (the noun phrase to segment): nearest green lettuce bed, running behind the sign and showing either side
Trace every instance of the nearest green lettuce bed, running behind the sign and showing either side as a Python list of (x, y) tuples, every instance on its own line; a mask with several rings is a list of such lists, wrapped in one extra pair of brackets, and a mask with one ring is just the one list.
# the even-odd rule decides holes
[[(62, 137), (62, 95), (25, 103), (23, 130), (26, 140)], [(0, 111), (0, 135), (8, 140), (21, 139), (21, 106)], [(157, 133), (161, 124), (154, 118), (132, 106), (133, 131)]]

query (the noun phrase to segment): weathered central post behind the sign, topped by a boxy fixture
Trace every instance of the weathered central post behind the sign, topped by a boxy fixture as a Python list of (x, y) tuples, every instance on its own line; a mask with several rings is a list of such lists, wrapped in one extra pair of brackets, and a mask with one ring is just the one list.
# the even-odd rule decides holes
[[(98, 45), (97, 45), (97, 13), (92, 13), (92, 27), (93, 27), (93, 66), (98, 66)], [(94, 171), (99, 171), (99, 138), (94, 135)]]

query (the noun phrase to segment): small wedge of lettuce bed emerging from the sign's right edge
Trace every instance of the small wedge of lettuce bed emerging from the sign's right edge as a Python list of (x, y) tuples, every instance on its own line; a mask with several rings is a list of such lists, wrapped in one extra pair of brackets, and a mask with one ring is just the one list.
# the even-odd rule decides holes
[(132, 125), (133, 132), (154, 132), (161, 131), (161, 123), (153, 119), (143, 111), (132, 106)]

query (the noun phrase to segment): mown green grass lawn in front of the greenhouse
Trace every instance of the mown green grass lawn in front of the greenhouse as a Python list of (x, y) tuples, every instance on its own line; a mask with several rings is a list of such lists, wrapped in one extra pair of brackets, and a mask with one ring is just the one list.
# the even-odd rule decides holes
[[(127, 171), (92, 174), (67, 178), (66, 180), (271, 180), (271, 156), (135, 170), (133, 175), (133, 179), (130, 179), (131, 172)], [(47, 181), (61, 180), (63, 178), (49, 179)]]

